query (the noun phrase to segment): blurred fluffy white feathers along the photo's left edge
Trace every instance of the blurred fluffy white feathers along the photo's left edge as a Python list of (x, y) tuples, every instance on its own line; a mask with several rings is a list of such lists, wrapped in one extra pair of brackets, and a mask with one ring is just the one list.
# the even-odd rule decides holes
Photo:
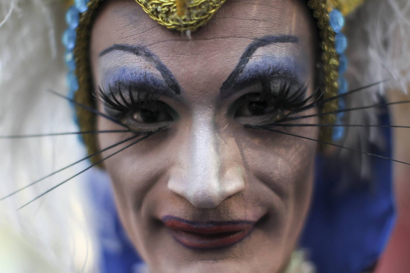
[[(7, 18), (0, 28), (0, 135), (78, 131), (68, 103), (48, 92), (51, 88), (67, 93), (60, 43), (65, 9), (62, 1), (0, 1), (0, 16)], [(77, 139), (70, 135), (0, 140), (0, 196), (84, 157)], [(8, 222), (39, 255), (65, 272), (80, 272), (86, 259), (86, 272), (93, 268), (93, 223), (82, 183), (87, 174), (16, 209), (87, 165), (82, 162), (0, 203), (0, 225)]]

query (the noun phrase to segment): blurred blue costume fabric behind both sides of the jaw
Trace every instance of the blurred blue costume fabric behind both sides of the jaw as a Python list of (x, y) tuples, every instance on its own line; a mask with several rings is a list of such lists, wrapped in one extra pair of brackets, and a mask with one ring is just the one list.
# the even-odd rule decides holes
[[(380, 115), (379, 124), (389, 124), (387, 110)], [(391, 131), (382, 131), (386, 149), (371, 147), (369, 152), (391, 158)], [(352, 177), (358, 187), (340, 193), (335, 187), (346, 170), (320, 155), (316, 158), (314, 196), (300, 245), (310, 250), (310, 260), (318, 273), (363, 272), (377, 263), (385, 247), (394, 223), (392, 163), (372, 157), (371, 166), (371, 183)], [(108, 222), (98, 232), (100, 272), (137, 273), (143, 261), (121, 226), (107, 177), (92, 173), (90, 179), (91, 188), (93, 183), (107, 183), (105, 190), (93, 191), (98, 210)]]

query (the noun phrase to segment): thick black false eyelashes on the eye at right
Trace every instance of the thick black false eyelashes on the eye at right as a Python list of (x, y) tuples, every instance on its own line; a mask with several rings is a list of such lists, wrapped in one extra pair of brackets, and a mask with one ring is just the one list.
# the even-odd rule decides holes
[(307, 79), (296, 91), (292, 91), (294, 83), (290, 81), (282, 81), (276, 92), (272, 90), (269, 77), (260, 78), (260, 82), (262, 93), (258, 93), (256, 96), (250, 95), (247, 98), (255, 102), (269, 102), (275, 108), (289, 111), (290, 113), (312, 107), (322, 98), (319, 88), (315, 88), (312, 95), (305, 98), (309, 88)]

